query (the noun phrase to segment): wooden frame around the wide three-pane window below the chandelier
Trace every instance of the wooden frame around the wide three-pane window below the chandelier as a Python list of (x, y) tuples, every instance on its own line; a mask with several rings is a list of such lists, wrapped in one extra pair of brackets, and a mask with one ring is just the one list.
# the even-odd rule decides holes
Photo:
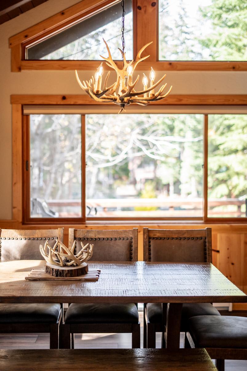
[[(198, 106), (203, 101), (205, 106), (237, 106), (241, 105), (247, 108), (246, 104), (247, 95), (172, 95), (168, 96), (166, 102), (154, 102), (152, 106)], [(79, 103), (78, 103), (79, 102)], [(245, 102), (245, 104), (244, 104)], [(23, 224), (95, 224), (98, 222), (112, 223), (112, 222), (135, 222), (136, 221), (159, 221), (160, 223), (169, 223), (169, 221), (181, 223), (181, 222), (198, 222), (198, 223), (247, 223), (245, 217), (235, 218), (212, 218), (207, 216), (207, 155), (208, 155), (208, 115), (204, 114), (204, 139), (203, 139), (203, 153), (204, 153), (204, 172), (203, 172), (203, 209), (202, 217), (115, 217), (115, 218), (103, 218), (103, 217), (86, 217), (86, 191), (85, 181), (82, 182), (82, 217), (80, 218), (30, 218), (30, 179), (29, 171), (26, 171), (26, 161), (29, 161), (29, 134), (28, 134), (28, 122), (29, 116), (23, 115), (24, 105), (80, 105), (80, 106), (93, 106), (95, 102), (92, 100), (89, 102), (87, 96), (61, 96), (61, 95), (12, 95), (12, 148), (13, 148), (13, 219), (22, 222)], [(100, 105), (102, 106), (102, 104)], [(107, 105), (103, 104), (107, 107)], [(147, 108), (144, 108), (144, 113)], [(182, 112), (181, 112), (182, 113)], [(82, 114), (82, 179), (85, 180), (86, 172), (86, 160), (85, 160), (85, 114)], [(21, 181), (20, 181), (21, 180)]]

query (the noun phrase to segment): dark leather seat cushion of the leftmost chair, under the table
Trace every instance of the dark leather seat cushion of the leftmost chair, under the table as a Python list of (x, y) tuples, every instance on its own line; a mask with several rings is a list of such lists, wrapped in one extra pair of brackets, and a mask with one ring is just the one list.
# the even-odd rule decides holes
[(53, 324), (60, 304), (0, 304), (0, 324)]

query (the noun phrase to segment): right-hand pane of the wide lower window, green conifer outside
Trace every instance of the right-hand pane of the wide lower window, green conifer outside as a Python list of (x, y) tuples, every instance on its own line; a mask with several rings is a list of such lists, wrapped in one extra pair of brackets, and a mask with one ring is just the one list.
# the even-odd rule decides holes
[(208, 115), (208, 216), (245, 217), (247, 115)]

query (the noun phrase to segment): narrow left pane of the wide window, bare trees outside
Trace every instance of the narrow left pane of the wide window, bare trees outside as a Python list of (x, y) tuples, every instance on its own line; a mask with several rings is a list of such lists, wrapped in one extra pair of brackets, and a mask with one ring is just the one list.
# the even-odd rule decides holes
[(82, 216), (80, 115), (30, 115), (30, 217)]

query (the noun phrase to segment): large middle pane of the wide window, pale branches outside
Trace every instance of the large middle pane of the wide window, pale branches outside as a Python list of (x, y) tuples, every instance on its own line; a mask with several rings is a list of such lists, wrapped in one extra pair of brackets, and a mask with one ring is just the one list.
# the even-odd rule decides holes
[(100, 217), (202, 217), (203, 115), (86, 115), (86, 203)]

